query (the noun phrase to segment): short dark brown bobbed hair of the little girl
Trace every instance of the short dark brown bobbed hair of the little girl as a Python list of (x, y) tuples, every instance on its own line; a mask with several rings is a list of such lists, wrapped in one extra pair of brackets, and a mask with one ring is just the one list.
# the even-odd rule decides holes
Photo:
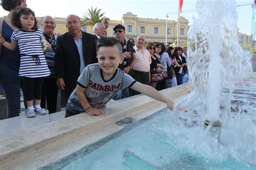
[(33, 12), (30, 8), (26, 8), (26, 7), (18, 8), (12, 14), (11, 24), (16, 26), (18, 29), (22, 29), (21, 21), (19, 20), (19, 18), (22, 15), (30, 15), (30, 14), (32, 14), (32, 16), (35, 18), (35, 25), (32, 27), (32, 29), (37, 29), (37, 20), (36, 20), (35, 12)]

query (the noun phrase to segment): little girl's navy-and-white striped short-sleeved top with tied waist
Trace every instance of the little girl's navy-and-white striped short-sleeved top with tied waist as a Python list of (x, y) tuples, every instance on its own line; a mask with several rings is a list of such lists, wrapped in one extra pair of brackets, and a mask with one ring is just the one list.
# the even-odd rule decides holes
[(22, 77), (45, 77), (50, 75), (47, 66), (41, 37), (43, 31), (15, 30), (11, 35), (11, 40), (18, 43), (21, 53), (21, 66), (19, 67), (19, 76)]

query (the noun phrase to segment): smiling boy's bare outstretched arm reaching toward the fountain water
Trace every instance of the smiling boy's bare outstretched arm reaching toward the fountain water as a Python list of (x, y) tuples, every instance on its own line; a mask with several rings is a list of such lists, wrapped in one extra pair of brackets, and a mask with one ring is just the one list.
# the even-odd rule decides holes
[(145, 84), (142, 84), (140, 82), (136, 82), (133, 84), (133, 86), (131, 87), (131, 89), (139, 91), (139, 93), (142, 93), (144, 95), (147, 95), (151, 98), (154, 98), (160, 102), (164, 102), (167, 104), (167, 107), (169, 109), (173, 109), (173, 102), (166, 97), (165, 95), (161, 94), (159, 91), (157, 91), (156, 89), (154, 89), (151, 86), (147, 86)]

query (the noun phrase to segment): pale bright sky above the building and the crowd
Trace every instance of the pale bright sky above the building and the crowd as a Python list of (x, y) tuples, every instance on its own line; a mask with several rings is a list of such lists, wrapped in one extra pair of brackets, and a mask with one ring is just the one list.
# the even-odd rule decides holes
[[(217, 0), (218, 1), (232, 1), (232, 0)], [(43, 3), (42, 3), (43, 2)], [(178, 0), (26, 0), (28, 7), (35, 11), (37, 17), (50, 15), (52, 17), (65, 18), (70, 14), (75, 14), (79, 17), (84, 16), (88, 9), (102, 9), (105, 12), (105, 17), (111, 20), (120, 20), (122, 15), (126, 12), (132, 12), (139, 18), (153, 18), (153, 19), (177, 19), (178, 17)], [(237, 4), (250, 4), (252, 0), (237, 0)], [(187, 10), (196, 9), (196, 0), (183, 0), (184, 11), (181, 16), (188, 19), (191, 23), (193, 17), (197, 17), (197, 12), (186, 12)], [(238, 6), (238, 28), (239, 32), (251, 34), (252, 23), (252, 6)], [(0, 7), (0, 16), (7, 15), (8, 12)]]

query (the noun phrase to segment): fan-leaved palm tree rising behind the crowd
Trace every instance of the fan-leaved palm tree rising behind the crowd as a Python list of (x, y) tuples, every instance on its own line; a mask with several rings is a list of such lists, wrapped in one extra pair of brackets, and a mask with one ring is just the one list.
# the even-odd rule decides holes
[[(84, 20), (82, 21), (83, 26), (86, 25), (95, 25), (96, 23), (101, 23), (102, 20), (106, 17), (103, 17), (105, 12), (100, 13), (102, 9), (97, 9), (97, 7), (95, 9), (88, 9), (89, 12), (84, 13)], [(107, 20), (109, 20), (109, 18), (106, 18)]]

